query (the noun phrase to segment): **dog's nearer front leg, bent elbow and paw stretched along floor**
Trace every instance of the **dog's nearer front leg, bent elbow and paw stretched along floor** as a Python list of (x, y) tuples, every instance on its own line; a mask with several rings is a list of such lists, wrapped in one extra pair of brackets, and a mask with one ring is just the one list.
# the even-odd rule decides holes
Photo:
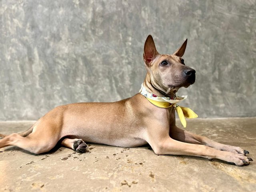
[(148, 127), (147, 129), (145, 140), (158, 155), (190, 155), (208, 159), (218, 158), (220, 160), (232, 162), (238, 166), (250, 163), (246, 156), (237, 152), (221, 151), (200, 143), (190, 144), (174, 140), (170, 138), (168, 128), (161, 127), (154, 123), (152, 125), (153, 126), (150, 126), (150, 128)]

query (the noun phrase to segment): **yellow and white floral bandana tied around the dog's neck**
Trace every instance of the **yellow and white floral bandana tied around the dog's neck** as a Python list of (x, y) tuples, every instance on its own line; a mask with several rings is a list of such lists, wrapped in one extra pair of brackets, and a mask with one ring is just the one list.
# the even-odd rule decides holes
[(149, 102), (151, 102), (152, 104), (154, 104), (155, 106), (158, 106), (160, 108), (169, 108), (169, 107), (174, 107), (179, 118), (180, 118), (180, 122), (182, 123), (182, 125), (184, 126), (184, 128), (187, 126), (187, 122), (185, 118), (197, 118), (198, 115), (192, 111), (190, 108), (186, 108), (186, 107), (181, 107), (178, 106), (176, 103), (184, 100), (187, 98), (187, 96), (182, 96), (182, 97), (158, 97), (150, 92), (148, 92), (146, 90), (146, 88), (143, 86), (143, 84), (141, 85), (141, 89), (140, 89), (140, 93), (145, 96), (147, 98), (147, 100)]

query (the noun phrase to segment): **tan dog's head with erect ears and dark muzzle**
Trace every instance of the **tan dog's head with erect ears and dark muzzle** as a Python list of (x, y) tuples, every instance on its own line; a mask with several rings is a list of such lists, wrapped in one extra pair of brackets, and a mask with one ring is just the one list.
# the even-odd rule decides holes
[(167, 95), (175, 94), (180, 87), (188, 87), (196, 80), (196, 71), (184, 64), (182, 56), (187, 40), (172, 55), (159, 54), (154, 40), (148, 36), (144, 45), (144, 62), (152, 85)]

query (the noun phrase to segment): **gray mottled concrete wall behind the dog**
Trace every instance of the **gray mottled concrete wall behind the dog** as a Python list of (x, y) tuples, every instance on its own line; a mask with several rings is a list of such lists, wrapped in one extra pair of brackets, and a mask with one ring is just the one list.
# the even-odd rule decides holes
[(200, 117), (256, 116), (256, 0), (0, 0), (0, 120), (138, 92), (144, 41), (172, 54), (188, 38)]

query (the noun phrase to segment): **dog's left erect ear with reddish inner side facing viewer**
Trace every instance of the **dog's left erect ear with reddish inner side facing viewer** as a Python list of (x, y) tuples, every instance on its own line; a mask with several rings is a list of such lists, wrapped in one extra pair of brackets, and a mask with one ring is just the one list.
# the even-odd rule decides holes
[(146, 39), (146, 42), (144, 44), (144, 54), (143, 58), (147, 65), (150, 64), (152, 60), (156, 57), (156, 55), (159, 54), (156, 50), (156, 46), (154, 43), (154, 40), (151, 35), (149, 35)]

